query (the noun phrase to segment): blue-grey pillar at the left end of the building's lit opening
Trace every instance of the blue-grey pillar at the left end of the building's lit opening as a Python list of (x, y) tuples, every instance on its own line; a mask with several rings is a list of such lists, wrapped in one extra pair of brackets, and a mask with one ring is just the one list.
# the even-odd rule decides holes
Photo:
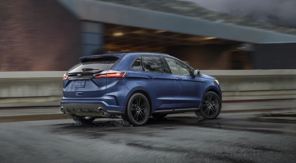
[(96, 55), (104, 48), (104, 23), (82, 21), (82, 56)]

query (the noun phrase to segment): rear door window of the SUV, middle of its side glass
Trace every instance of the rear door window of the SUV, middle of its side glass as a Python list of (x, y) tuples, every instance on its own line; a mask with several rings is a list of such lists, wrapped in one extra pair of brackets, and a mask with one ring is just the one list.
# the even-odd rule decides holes
[(142, 71), (166, 73), (160, 57), (143, 57)]

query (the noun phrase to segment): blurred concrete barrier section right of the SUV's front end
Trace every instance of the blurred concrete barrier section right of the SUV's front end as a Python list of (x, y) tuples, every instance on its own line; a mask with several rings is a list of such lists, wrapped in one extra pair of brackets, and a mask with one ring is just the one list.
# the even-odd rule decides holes
[(204, 70), (218, 79), (223, 100), (296, 98), (296, 70)]

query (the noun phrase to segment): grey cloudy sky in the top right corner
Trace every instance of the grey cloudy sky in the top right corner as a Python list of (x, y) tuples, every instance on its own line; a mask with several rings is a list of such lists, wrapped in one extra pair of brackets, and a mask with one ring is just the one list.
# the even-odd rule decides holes
[(186, 0), (231, 15), (296, 28), (296, 0)]

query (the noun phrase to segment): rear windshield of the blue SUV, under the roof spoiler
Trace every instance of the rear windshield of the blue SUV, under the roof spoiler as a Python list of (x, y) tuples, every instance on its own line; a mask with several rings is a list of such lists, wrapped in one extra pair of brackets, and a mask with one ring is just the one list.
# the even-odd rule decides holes
[(116, 56), (89, 57), (68, 70), (68, 73), (83, 72), (82, 69), (103, 71), (110, 69), (120, 58)]

